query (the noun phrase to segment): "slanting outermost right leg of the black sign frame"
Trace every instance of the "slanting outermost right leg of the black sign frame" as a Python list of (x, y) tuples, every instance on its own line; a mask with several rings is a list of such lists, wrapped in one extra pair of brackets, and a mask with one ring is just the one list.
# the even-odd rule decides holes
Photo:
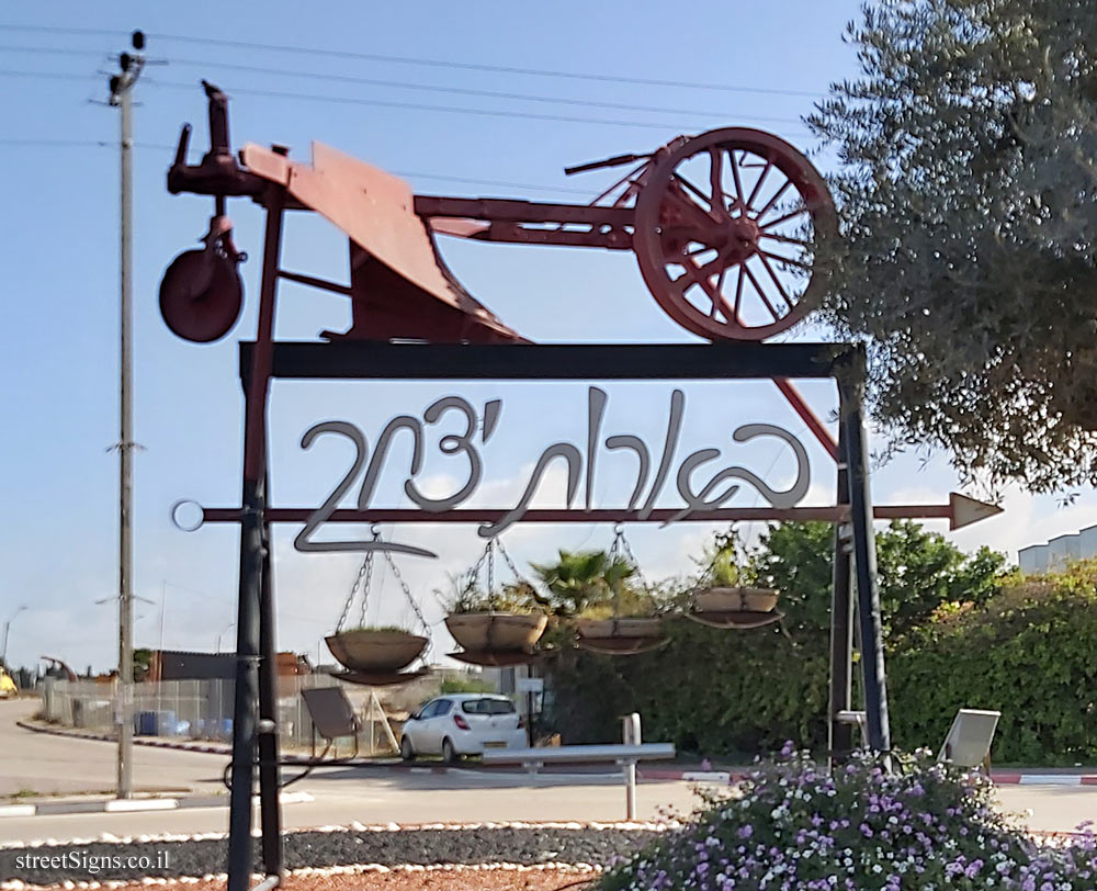
[(849, 500), (853, 526), (853, 560), (857, 569), (857, 620), (861, 632), (861, 678), (868, 744), (877, 752), (891, 751), (887, 720), (887, 679), (884, 673), (883, 629), (880, 621), (880, 589), (877, 585), (877, 544), (872, 529), (872, 498), (869, 490), (869, 446), (864, 436), (864, 365), (852, 363), (841, 376), (841, 427), (849, 463)]

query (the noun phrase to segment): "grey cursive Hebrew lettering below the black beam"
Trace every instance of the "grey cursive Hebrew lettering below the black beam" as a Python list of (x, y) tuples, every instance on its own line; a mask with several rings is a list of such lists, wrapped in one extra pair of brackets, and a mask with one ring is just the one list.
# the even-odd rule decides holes
[[(722, 458), (719, 448), (698, 449), (680, 461), (676, 451), (681, 439), (682, 422), (686, 415), (686, 394), (675, 390), (670, 395), (667, 413), (666, 436), (661, 446), (653, 447), (641, 437), (630, 432), (610, 432), (603, 429), (606, 407), (609, 397), (606, 391), (591, 386), (587, 392), (587, 437), (583, 446), (572, 442), (555, 442), (545, 447), (533, 466), (529, 481), (518, 499), (518, 503), (506, 509), (498, 519), (483, 522), (479, 527), (482, 538), (494, 538), (525, 517), (530, 503), (544, 482), (545, 474), (553, 463), (563, 463), (567, 471), (565, 509), (570, 510), (580, 485), (585, 493), (584, 510), (593, 509), (593, 493), (599, 459), (609, 452), (624, 452), (635, 460), (636, 471), (634, 485), (626, 505), (621, 509), (635, 515), (637, 521), (651, 519), (656, 504), (664, 489), (667, 488), (671, 475), (678, 495), (685, 504), (665, 519), (664, 525), (688, 520), (700, 511), (714, 510), (732, 500), (748, 485), (767, 504), (776, 508), (791, 508), (803, 500), (811, 487), (811, 465), (807, 450), (803, 443), (788, 430), (772, 424), (744, 424), (731, 431), (733, 443), (746, 443), (759, 439), (773, 441), (778, 448), (787, 447), (796, 464), (796, 475), (788, 488), (774, 488), (754, 471), (739, 465), (723, 466), (713, 470), (714, 462)], [(373, 496), (377, 480), (385, 469), (388, 450), (397, 436), (410, 438), (411, 460), (404, 482), (404, 493), (412, 504), (426, 514), (445, 514), (459, 508), (476, 494), (485, 469), (482, 448), (495, 435), (502, 414), (502, 399), (489, 399), (484, 403), (480, 413), (461, 396), (444, 396), (423, 411), (422, 420), (410, 415), (399, 415), (393, 418), (382, 429), (376, 438), (376, 446), (370, 452), (366, 436), (350, 421), (327, 420), (310, 427), (302, 437), (301, 447), (308, 449), (316, 439), (325, 433), (337, 435), (349, 439), (354, 446), (354, 460), (339, 483), (331, 489), (324, 504), (320, 505), (305, 521), (294, 541), (298, 551), (370, 551), (388, 550), (399, 553), (432, 556), (426, 549), (394, 541), (317, 541), (314, 532), (321, 527), (337, 510), (339, 503), (350, 494), (354, 486), (361, 485), (358, 492), (358, 509), (369, 510), (373, 506)], [(441, 498), (431, 498), (419, 488), (416, 476), (423, 466), (426, 451), (426, 428), (438, 424), (448, 413), (455, 414), (463, 429), (457, 433), (446, 433), (439, 440), (439, 450), (445, 455), (460, 455), (467, 462), (464, 482), (460, 487)], [(677, 467), (677, 469), (676, 469)], [(654, 469), (654, 476), (652, 471)], [(708, 471), (708, 476), (704, 472)], [(602, 508), (606, 509), (604, 507)], [(425, 518), (426, 519), (426, 518)]]

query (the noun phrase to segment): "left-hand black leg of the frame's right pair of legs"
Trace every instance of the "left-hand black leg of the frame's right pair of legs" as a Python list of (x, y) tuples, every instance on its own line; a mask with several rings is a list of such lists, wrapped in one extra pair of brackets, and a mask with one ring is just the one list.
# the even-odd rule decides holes
[[(839, 505), (849, 504), (849, 463), (846, 437), (838, 433), (838, 494)], [(834, 526), (834, 590), (830, 597), (830, 708), (829, 753), (830, 764), (840, 764), (853, 749), (853, 728), (838, 720), (838, 712), (852, 707), (853, 655), (853, 599), (851, 597), (850, 523)]]

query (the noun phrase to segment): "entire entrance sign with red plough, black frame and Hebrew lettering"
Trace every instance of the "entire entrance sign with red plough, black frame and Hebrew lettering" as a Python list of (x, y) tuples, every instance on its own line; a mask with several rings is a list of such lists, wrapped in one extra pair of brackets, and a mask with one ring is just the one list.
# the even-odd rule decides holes
[[(648, 154), (573, 168), (569, 172), (629, 166), (627, 172), (589, 205), (415, 195), (396, 177), (323, 146), (314, 148), (312, 165), (291, 160), (289, 150), (279, 146), (246, 146), (238, 160), (228, 138), (228, 100), (216, 87), (203, 84), (208, 98), (210, 150), (200, 163), (188, 165), (191, 129), (184, 125), (168, 171), (170, 192), (214, 199), (214, 216), (202, 239), (204, 248), (180, 255), (160, 285), (161, 316), (180, 337), (195, 342), (217, 340), (231, 329), (240, 312), (242, 283), (237, 268), (246, 255), (233, 243), (227, 199), (248, 198), (265, 213), (256, 339), (240, 345), (245, 396), (240, 503), (202, 510), (203, 520), (233, 522), (240, 530), (228, 891), (247, 891), (252, 872), (257, 771), (267, 878), (256, 891), (278, 887), (285, 871), (271, 548), (271, 526), (278, 522), (304, 526), (296, 543), (305, 551), (366, 550), (365, 542), (318, 541), (315, 533), (329, 522), (383, 519), (477, 522), (479, 534), (487, 538), (534, 519), (677, 522), (750, 517), (838, 523), (830, 609), (830, 751), (840, 758), (852, 747), (850, 729), (841, 724), (840, 715), (852, 708), (856, 616), (866, 714), (863, 743), (887, 757), (891, 735), (872, 530), (873, 517), (881, 516), (884, 508), (873, 508), (869, 487), (864, 349), (851, 343), (760, 342), (807, 315), (828, 286), (827, 255), (839, 237), (837, 215), (825, 181), (807, 158), (771, 134), (730, 127), (680, 136)], [(287, 211), (318, 213), (348, 237), (349, 285), (282, 268)], [(713, 342), (531, 343), (460, 285), (437, 250), (434, 236), (443, 234), (509, 244), (631, 249), (645, 284), (666, 314)], [(323, 332), (326, 342), (275, 342), (278, 285), (283, 279), (348, 297), (350, 329)], [(828, 379), (837, 385), (837, 442), (790, 382), (810, 377)], [(485, 472), (484, 447), (501, 422), (502, 402), (490, 399), (474, 407), (460, 396), (446, 396), (431, 404), (421, 418), (393, 418), (372, 451), (365, 433), (347, 420), (327, 420), (309, 428), (302, 437), (302, 448), (309, 449), (324, 436), (339, 436), (353, 442), (354, 460), (319, 507), (278, 508), (271, 505), (267, 454), (268, 402), (276, 379), (587, 383), (768, 379), (835, 458), (836, 504), (800, 506), (811, 481), (807, 455), (803, 443), (783, 428), (740, 422), (728, 428), (728, 441), (721, 444), (727, 447), (726, 454), (723, 448), (710, 446), (678, 459), (686, 410), (681, 391), (671, 395), (660, 443), (647, 442), (627, 430), (604, 429), (608, 396), (590, 386), (585, 441), (546, 446), (512, 505), (498, 509), (462, 507), (476, 493)], [(438, 448), (446, 456), (464, 459), (467, 467), (455, 490), (433, 498), (417, 485), (417, 475), (423, 464), (427, 430), (443, 416), (456, 416), (464, 424), (456, 433), (442, 436)], [(411, 459), (404, 478), (405, 494), (415, 505), (409, 510), (372, 504), (396, 437), (411, 439)], [(765, 474), (736, 463), (735, 447), (755, 440), (791, 452), (796, 477), (788, 488), (776, 487)], [(614, 494), (612, 500), (619, 507), (595, 507), (591, 493), (598, 467), (611, 453), (633, 460), (635, 477), (627, 493)], [(531, 509), (551, 465), (563, 465), (567, 471), (565, 507)], [(658, 499), (671, 486), (678, 493), (678, 505), (658, 507)], [(766, 506), (732, 505), (744, 486)], [(580, 487), (584, 504), (575, 507)], [(357, 508), (339, 508), (351, 494), (357, 495)], [(953, 525), (994, 510), (961, 498), (943, 507), (889, 509), (891, 516), (948, 517)], [(417, 545), (388, 548), (430, 553)]]

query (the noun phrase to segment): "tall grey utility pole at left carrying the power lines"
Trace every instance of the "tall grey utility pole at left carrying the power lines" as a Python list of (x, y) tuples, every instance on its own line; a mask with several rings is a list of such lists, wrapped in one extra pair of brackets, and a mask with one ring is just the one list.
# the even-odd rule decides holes
[(118, 401), (118, 798), (133, 797), (133, 88), (145, 66), (145, 35), (135, 31), (133, 53), (118, 56), (111, 104), (121, 111), (121, 348)]

